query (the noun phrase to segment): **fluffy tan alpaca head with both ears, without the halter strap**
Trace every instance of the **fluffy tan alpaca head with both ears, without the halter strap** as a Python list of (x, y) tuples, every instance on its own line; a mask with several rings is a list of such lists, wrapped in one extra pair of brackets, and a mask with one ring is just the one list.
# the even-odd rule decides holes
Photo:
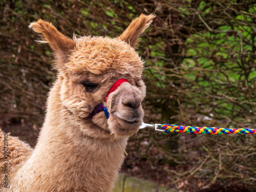
[[(41, 19), (31, 23), (30, 28), (44, 35), (41, 42), (49, 43), (53, 49), (61, 104), (79, 123), (90, 120), (115, 137), (127, 137), (138, 131), (144, 114), (141, 101), (145, 85), (141, 79), (143, 61), (135, 48), (139, 35), (154, 17), (141, 14), (117, 38), (70, 39), (51, 23)], [(129, 82), (123, 82), (104, 102), (110, 113), (108, 121), (103, 112), (91, 119), (89, 114), (121, 78)]]

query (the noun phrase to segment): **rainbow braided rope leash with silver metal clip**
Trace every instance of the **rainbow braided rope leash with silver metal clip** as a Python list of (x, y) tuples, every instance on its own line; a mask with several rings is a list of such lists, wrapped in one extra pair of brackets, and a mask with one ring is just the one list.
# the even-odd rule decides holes
[(221, 134), (256, 134), (256, 129), (228, 129), (220, 127), (206, 127), (206, 126), (182, 126), (176, 124), (147, 124), (142, 123), (140, 129), (145, 127), (152, 127), (155, 131), (164, 133), (191, 133), (191, 134), (207, 134), (207, 135), (221, 135)]

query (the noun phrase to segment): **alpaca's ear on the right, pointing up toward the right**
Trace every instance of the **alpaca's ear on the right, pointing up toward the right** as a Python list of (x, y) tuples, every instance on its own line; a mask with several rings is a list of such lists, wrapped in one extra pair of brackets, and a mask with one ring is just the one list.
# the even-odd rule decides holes
[(134, 19), (127, 29), (119, 36), (120, 40), (127, 42), (131, 47), (136, 48), (139, 40), (138, 37), (143, 31), (150, 26), (156, 15), (144, 15)]

